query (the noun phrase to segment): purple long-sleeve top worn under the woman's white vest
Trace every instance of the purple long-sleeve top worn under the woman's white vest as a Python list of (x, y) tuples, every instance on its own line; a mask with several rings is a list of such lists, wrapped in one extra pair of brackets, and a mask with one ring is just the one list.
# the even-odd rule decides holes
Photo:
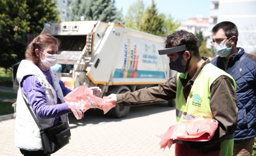
[[(38, 68), (40, 67), (38, 66)], [(46, 104), (45, 89), (34, 75), (28, 75), (24, 77), (21, 82), (21, 89), (28, 98), (29, 103), (37, 117), (41, 119), (55, 118), (53, 125), (56, 125), (56, 123), (60, 121), (59, 117), (61, 115), (70, 113), (71, 111), (69, 111), (67, 103), (61, 103), (61, 100), (57, 97), (50, 72), (45, 71), (42, 68), (40, 68), (40, 70), (44, 73), (46, 80), (54, 89), (54, 98), (57, 100), (57, 105), (48, 106)], [(64, 97), (71, 92), (71, 90), (65, 87), (61, 80), (59, 80), (59, 85), (61, 86)]]

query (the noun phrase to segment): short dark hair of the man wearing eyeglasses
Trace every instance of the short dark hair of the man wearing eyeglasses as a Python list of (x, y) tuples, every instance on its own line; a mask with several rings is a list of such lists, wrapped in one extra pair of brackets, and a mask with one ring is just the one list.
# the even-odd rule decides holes
[(236, 27), (236, 25), (232, 22), (224, 21), (216, 24), (211, 31), (212, 33), (216, 33), (220, 29), (222, 29), (225, 32), (225, 35), (228, 38), (235, 36), (236, 37), (235, 45), (236, 45), (236, 43), (238, 42), (238, 28)]

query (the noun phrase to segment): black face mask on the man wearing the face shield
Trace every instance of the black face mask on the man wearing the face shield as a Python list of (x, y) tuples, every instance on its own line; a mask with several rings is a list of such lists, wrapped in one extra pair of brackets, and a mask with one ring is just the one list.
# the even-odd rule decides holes
[(190, 60), (191, 60), (191, 54), (190, 54), (190, 58), (187, 60), (186, 65), (182, 65), (182, 59), (183, 59), (183, 54), (179, 55), (177, 60), (170, 62), (169, 63), (170, 69), (177, 71), (179, 73), (186, 73), (187, 68), (189, 67)]

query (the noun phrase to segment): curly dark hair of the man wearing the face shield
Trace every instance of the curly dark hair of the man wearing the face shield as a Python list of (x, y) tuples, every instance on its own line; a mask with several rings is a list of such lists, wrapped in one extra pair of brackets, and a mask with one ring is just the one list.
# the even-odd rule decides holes
[(198, 38), (193, 33), (186, 30), (177, 30), (173, 34), (165, 37), (165, 48), (173, 48), (177, 46), (186, 45), (187, 51), (192, 56), (200, 56), (198, 50)]

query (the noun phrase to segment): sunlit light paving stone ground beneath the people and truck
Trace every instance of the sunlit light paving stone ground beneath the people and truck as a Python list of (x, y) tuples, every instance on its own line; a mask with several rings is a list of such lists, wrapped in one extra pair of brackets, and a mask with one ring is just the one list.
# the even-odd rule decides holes
[[(116, 119), (103, 111), (87, 110), (77, 120), (69, 115), (71, 140), (51, 156), (174, 156), (174, 146), (160, 149), (156, 135), (176, 124), (174, 107), (159, 104), (131, 107), (126, 118)], [(0, 122), (0, 155), (21, 156), (14, 144), (15, 119)]]

